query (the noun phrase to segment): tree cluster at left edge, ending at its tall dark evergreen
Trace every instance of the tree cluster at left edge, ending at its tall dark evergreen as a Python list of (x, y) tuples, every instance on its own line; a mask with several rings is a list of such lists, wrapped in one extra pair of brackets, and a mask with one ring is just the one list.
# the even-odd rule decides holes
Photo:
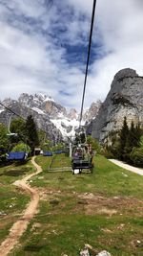
[(0, 154), (9, 151), (28, 151), (33, 154), (34, 148), (39, 145), (39, 137), (32, 116), (27, 120), (13, 119), (8, 128), (0, 123)]

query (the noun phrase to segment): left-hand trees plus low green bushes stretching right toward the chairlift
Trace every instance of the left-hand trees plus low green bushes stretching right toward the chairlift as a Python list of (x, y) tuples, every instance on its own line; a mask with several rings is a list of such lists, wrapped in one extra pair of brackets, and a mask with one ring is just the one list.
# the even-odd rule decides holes
[(11, 120), (10, 131), (0, 123), (1, 158), (10, 151), (27, 151), (29, 155), (33, 155), (37, 147), (43, 151), (57, 151), (65, 147), (64, 143), (60, 141), (57, 141), (56, 145), (54, 144), (47, 132), (36, 127), (31, 115), (27, 117), (26, 121), (22, 118)]

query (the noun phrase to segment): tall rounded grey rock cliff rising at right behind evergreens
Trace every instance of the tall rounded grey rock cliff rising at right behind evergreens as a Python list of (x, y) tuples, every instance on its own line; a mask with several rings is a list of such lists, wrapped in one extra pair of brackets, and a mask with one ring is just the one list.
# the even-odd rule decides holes
[(133, 69), (120, 70), (112, 81), (111, 90), (92, 122), (92, 136), (105, 142), (112, 130), (123, 125), (126, 116), (128, 125), (143, 125), (143, 78)]

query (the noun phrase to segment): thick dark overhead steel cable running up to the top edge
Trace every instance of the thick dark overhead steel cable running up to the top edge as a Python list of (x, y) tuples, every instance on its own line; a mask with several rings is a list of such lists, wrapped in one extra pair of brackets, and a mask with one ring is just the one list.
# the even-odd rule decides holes
[(86, 64), (86, 73), (85, 73), (85, 81), (84, 81), (84, 88), (83, 88), (83, 96), (82, 96), (81, 112), (80, 112), (80, 119), (79, 119), (79, 127), (81, 126), (81, 121), (82, 121), (83, 105), (84, 105), (85, 91), (86, 91), (86, 85), (87, 85), (87, 77), (88, 77), (88, 71), (89, 71), (89, 62), (90, 62), (91, 46), (92, 46), (92, 29), (93, 29), (94, 15), (95, 15), (95, 7), (96, 7), (96, 0), (93, 0), (91, 32), (90, 32), (90, 39), (89, 39), (89, 50), (88, 50), (88, 58), (87, 58), (87, 64)]

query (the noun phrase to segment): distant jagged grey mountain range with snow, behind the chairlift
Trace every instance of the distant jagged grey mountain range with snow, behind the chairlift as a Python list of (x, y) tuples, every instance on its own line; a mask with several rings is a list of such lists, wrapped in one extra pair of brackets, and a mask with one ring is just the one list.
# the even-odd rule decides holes
[[(51, 97), (41, 93), (34, 95), (23, 93), (17, 101), (8, 98), (5, 99), (2, 104), (9, 107), (23, 118), (27, 118), (27, 116), (31, 114), (37, 128), (45, 130), (51, 140), (57, 141), (57, 138), (72, 137), (75, 133), (75, 128), (79, 126), (79, 113), (76, 109), (72, 108), (68, 112), (65, 107), (57, 104)], [(92, 104), (91, 110), (87, 109), (84, 112), (84, 123), (91, 121), (99, 105), (99, 102)], [(95, 109), (95, 111), (93, 111), (93, 109)], [(10, 115), (10, 111), (0, 106), (0, 122), (8, 126)], [(12, 118), (14, 118), (14, 116)]]

